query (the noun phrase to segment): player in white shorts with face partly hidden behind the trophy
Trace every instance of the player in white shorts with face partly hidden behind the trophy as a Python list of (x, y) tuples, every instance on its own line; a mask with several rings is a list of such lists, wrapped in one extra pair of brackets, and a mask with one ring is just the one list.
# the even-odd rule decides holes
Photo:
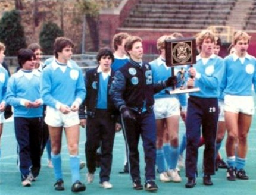
[[(166, 66), (165, 41), (175, 39), (173, 36), (161, 36), (157, 40), (157, 49), (160, 56), (150, 62), (154, 83), (166, 80), (171, 76), (171, 68)], [(178, 76), (179, 78), (179, 76)], [(180, 80), (179, 85), (182, 84)], [(171, 90), (168, 88), (168, 90)], [(157, 124), (157, 168), (162, 182), (180, 182), (180, 177), (176, 166), (179, 157), (179, 118), (180, 103), (182, 115), (186, 115), (186, 94), (170, 95), (162, 90), (154, 95), (154, 113)], [(167, 162), (167, 168), (165, 165)]]

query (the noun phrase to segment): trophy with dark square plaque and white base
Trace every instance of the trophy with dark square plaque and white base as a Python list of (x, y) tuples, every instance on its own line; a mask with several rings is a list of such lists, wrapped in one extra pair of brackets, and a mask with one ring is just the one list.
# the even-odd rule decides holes
[[(171, 67), (172, 75), (174, 75), (174, 67), (182, 65), (190, 65), (192, 67), (192, 64), (196, 63), (195, 38), (168, 39), (165, 41), (165, 49), (166, 65), (167, 67)], [(198, 87), (185, 88), (184, 86), (181, 86), (179, 89), (176, 89), (176, 87), (173, 86), (173, 90), (166, 90), (166, 93), (179, 94), (198, 92), (199, 90)]]

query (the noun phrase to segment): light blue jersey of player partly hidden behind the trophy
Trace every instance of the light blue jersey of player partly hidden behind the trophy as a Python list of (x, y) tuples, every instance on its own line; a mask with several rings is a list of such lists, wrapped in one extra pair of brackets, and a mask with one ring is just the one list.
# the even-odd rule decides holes
[[(171, 76), (171, 68), (166, 66), (166, 62), (163, 59), (161, 59), (161, 57), (158, 57), (154, 61), (149, 62), (149, 64), (151, 65), (154, 83), (167, 80), (167, 78)], [(178, 80), (178, 83), (176, 87), (180, 87), (180, 85), (182, 84), (182, 81), (180, 80), (179, 75), (177, 75), (177, 80)], [(168, 87), (166, 89), (171, 90), (171, 87)], [(187, 105), (187, 100), (186, 100), (187, 98), (185, 93), (182, 93), (179, 95), (170, 95), (169, 93), (166, 93), (166, 89), (161, 90), (161, 92), (155, 94), (154, 98), (177, 97), (180, 101), (181, 106)]]

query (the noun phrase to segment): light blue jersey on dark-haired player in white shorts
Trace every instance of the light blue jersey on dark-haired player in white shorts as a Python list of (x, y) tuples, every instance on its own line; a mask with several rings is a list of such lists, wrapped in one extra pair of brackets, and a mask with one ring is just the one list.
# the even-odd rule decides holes
[(80, 67), (70, 61), (63, 71), (55, 60), (42, 71), (40, 90), (43, 102), (58, 109), (58, 105), (71, 106), (75, 100), (85, 99), (85, 82)]

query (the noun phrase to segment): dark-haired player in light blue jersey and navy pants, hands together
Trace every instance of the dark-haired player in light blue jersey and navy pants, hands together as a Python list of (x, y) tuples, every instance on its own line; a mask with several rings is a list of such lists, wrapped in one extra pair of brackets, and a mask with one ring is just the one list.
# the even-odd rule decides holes
[(7, 103), (14, 108), (18, 167), (24, 187), (31, 186), (41, 166), (43, 102), (40, 96), (40, 73), (35, 70), (35, 59), (31, 49), (20, 49), (20, 70), (10, 77), (7, 87)]

